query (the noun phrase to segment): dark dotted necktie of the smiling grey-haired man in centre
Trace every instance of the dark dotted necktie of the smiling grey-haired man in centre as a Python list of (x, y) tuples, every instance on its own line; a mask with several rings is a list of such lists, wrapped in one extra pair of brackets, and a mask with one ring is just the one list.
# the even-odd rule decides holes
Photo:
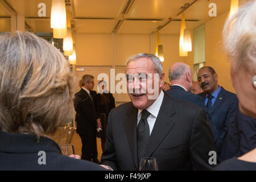
[(150, 113), (143, 109), (141, 112), (141, 119), (137, 126), (137, 159), (138, 165), (141, 162), (141, 158), (144, 157), (148, 139), (150, 138), (150, 127), (147, 122), (147, 117)]

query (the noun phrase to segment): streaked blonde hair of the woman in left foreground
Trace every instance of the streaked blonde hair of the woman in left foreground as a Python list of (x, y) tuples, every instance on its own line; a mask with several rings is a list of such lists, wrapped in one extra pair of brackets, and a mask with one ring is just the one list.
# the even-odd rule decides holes
[(68, 61), (30, 32), (0, 35), (0, 131), (52, 135), (73, 117)]

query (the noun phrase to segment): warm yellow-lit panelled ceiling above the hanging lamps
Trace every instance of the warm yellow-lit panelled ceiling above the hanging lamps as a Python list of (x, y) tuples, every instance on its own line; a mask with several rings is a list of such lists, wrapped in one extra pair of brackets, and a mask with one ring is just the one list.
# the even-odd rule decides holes
[[(79, 33), (150, 34), (160, 29), (160, 34), (179, 34), (181, 9), (185, 12), (186, 27), (193, 29), (210, 17), (209, 3), (217, 5), (217, 15), (229, 10), (230, 0), (66, 0), (71, 6), (73, 30)], [(7, 2), (16, 13), (25, 16), (26, 23), (35, 32), (52, 32), (50, 27), (51, 0), (0, 0), (0, 25), (10, 21), (10, 12), (3, 6)], [(46, 17), (38, 16), (38, 4), (46, 4)], [(130, 9), (123, 14), (126, 4)], [(172, 19), (172, 21), (170, 21)], [(119, 27), (117, 23), (119, 21)], [(8, 24), (8, 23), (6, 23)], [(10, 26), (10, 23), (9, 23)], [(115, 29), (115, 27), (117, 27)], [(1, 31), (1, 28), (0, 28)]]

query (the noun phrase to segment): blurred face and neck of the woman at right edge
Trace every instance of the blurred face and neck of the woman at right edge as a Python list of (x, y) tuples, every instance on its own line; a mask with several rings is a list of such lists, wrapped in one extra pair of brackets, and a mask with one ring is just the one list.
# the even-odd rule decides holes
[(256, 88), (251, 80), (254, 74), (247, 69), (234, 68), (234, 63), (230, 65), (230, 75), (232, 85), (237, 92), (239, 108), (241, 113), (256, 118)]

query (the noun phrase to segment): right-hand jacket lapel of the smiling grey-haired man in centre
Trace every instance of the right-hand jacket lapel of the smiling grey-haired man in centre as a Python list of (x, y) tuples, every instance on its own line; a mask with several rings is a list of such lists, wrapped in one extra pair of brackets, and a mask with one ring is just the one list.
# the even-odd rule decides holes
[(150, 140), (146, 147), (145, 156), (151, 156), (164, 137), (171, 131), (172, 127), (175, 125), (175, 121), (172, 119), (174, 114), (175, 108), (172, 104), (172, 100), (164, 94), (158, 117), (156, 118), (154, 128), (150, 135)]

